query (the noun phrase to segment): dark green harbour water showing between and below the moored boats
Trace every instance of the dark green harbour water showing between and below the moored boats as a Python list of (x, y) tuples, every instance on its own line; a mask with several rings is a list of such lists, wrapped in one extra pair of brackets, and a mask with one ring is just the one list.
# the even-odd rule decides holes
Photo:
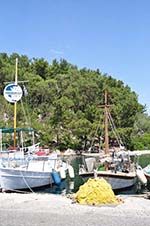
[[(138, 157), (138, 163), (145, 167), (148, 164), (150, 164), (150, 155), (143, 155)], [(69, 194), (69, 193), (75, 193), (78, 191), (79, 187), (85, 183), (85, 181), (78, 175), (79, 171), (79, 164), (82, 163), (81, 157), (77, 156), (76, 158), (73, 158), (70, 160), (71, 165), (74, 168), (75, 172), (75, 178), (70, 179), (69, 175), (67, 175), (66, 179), (62, 181), (62, 183), (57, 186), (53, 185), (52, 187), (48, 186), (45, 189), (38, 190), (40, 193), (52, 193), (52, 194)], [(146, 190), (150, 190), (150, 183), (148, 183), (147, 187), (139, 187), (139, 184), (135, 184), (131, 189), (128, 190), (122, 190), (119, 192), (115, 192), (116, 194), (137, 194), (137, 193), (143, 193)]]

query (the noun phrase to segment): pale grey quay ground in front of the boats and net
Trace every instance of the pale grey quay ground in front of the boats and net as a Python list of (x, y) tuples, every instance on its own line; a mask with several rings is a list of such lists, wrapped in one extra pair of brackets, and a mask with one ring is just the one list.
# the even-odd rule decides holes
[(149, 226), (150, 200), (121, 197), (116, 206), (86, 206), (61, 195), (0, 193), (0, 226)]

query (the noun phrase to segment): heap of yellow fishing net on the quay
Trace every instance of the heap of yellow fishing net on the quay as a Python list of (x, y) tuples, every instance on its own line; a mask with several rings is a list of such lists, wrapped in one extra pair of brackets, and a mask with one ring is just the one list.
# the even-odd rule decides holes
[(118, 204), (111, 185), (103, 178), (89, 179), (75, 194), (76, 202), (88, 205)]

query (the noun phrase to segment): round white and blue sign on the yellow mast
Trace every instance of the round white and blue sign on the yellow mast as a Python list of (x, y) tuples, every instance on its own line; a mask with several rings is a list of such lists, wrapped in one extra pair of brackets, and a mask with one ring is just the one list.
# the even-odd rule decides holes
[(14, 83), (8, 84), (4, 89), (4, 97), (10, 103), (16, 103), (22, 97), (22, 89)]

